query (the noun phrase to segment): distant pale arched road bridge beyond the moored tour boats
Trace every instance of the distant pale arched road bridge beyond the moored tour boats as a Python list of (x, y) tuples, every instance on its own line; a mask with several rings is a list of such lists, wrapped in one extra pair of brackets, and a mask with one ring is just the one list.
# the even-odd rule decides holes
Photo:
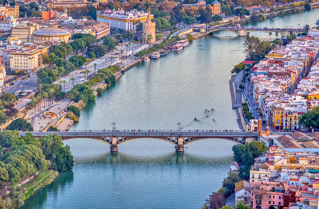
[(252, 31), (261, 31), (261, 32), (273, 32), (273, 35), (275, 35), (275, 32), (278, 31), (281, 35), (281, 37), (290, 36), (291, 34), (296, 33), (302, 33), (304, 30), (301, 29), (273, 29), (273, 28), (229, 28), (229, 27), (207, 27), (207, 28), (192, 28), (193, 31), (198, 32), (205, 32), (206, 34), (209, 34), (211, 32), (215, 31), (230, 31), (232, 33), (235, 33), (237, 36), (248, 36), (250, 32)]

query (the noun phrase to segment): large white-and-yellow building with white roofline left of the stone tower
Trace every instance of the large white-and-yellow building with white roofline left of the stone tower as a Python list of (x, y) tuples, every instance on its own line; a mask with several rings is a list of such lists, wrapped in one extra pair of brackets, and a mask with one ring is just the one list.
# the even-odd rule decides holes
[[(145, 22), (147, 20), (148, 13), (144, 11), (132, 10), (125, 12), (124, 10), (104, 10), (97, 11), (96, 21), (100, 23), (110, 23), (111, 28), (120, 28), (124, 31), (133, 30), (136, 32), (136, 25), (134, 22)], [(154, 15), (151, 15), (151, 19)]]

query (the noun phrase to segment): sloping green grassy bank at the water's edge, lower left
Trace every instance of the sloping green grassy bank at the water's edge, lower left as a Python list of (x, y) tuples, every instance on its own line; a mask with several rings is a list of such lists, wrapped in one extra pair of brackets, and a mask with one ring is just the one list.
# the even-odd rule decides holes
[(24, 185), (24, 198), (23, 201), (29, 198), (35, 191), (44, 187), (45, 185), (51, 184), (51, 182), (59, 175), (56, 170), (49, 169), (43, 173), (36, 175), (32, 181), (33, 183), (26, 183)]

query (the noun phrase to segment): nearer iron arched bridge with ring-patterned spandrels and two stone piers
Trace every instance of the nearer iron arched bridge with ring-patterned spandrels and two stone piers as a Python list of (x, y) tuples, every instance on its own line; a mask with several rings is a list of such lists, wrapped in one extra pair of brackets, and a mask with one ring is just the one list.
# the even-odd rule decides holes
[[(25, 135), (27, 132), (21, 132), (21, 135)], [(246, 142), (255, 141), (257, 139), (257, 132), (222, 132), (215, 131), (209, 132), (206, 130), (199, 132), (192, 131), (68, 131), (68, 132), (31, 132), (35, 137), (45, 137), (49, 134), (57, 134), (61, 136), (62, 141), (69, 139), (93, 139), (102, 141), (111, 146), (111, 151), (117, 151), (117, 146), (135, 139), (159, 139), (167, 141), (175, 145), (177, 151), (184, 151), (184, 146), (194, 141), (203, 139), (223, 139), (228, 141), (234, 141), (236, 143), (245, 144)]]

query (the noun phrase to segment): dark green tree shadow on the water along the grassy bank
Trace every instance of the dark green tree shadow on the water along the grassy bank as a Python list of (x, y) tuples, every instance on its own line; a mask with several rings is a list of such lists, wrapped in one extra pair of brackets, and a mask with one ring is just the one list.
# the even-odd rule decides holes
[(59, 175), (55, 178), (55, 180), (45, 187), (42, 187), (35, 191), (33, 195), (28, 198), (25, 201), (25, 204), (20, 207), (20, 209), (28, 209), (31, 206), (42, 208), (47, 198), (48, 193), (63, 193), (66, 191), (66, 186), (72, 185), (73, 183), (73, 171), (72, 170), (66, 170), (62, 173), (59, 173)]

